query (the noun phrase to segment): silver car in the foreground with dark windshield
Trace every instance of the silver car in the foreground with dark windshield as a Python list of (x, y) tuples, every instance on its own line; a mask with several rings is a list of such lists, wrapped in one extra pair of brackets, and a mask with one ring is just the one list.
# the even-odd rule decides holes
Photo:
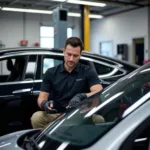
[(150, 63), (119, 79), (43, 131), (0, 137), (3, 150), (149, 150)]

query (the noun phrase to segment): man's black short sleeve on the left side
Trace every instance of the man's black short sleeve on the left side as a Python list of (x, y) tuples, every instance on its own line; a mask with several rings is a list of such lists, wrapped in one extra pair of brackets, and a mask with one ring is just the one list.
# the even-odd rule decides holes
[(45, 72), (45, 75), (44, 75), (44, 78), (43, 78), (43, 82), (42, 82), (42, 85), (41, 85), (41, 91), (42, 92), (50, 93), (51, 87), (52, 87), (52, 82), (51, 81), (52, 81), (52, 73), (48, 69)]

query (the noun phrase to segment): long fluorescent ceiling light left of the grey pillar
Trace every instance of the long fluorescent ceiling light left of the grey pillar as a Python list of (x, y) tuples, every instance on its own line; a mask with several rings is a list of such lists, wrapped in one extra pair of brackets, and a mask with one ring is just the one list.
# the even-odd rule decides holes
[(52, 11), (38, 10), (38, 9), (22, 9), (22, 8), (9, 8), (2, 7), (3, 11), (15, 11), (15, 12), (27, 12), (27, 13), (39, 13), (39, 14), (52, 14)]

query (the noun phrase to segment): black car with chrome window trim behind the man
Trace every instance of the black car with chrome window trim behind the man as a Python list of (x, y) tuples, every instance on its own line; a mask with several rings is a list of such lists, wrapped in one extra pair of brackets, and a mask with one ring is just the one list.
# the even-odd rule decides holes
[[(17, 48), (0, 50), (0, 135), (31, 128), (38, 110), (37, 97), (45, 71), (63, 62), (59, 49)], [(83, 52), (81, 63), (91, 66), (103, 87), (138, 68), (127, 62)]]

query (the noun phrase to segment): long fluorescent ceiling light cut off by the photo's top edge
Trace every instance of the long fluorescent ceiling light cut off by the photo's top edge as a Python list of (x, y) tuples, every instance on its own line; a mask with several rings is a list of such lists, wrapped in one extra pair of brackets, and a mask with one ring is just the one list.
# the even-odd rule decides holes
[(80, 4), (80, 5), (89, 5), (89, 6), (96, 6), (96, 7), (105, 7), (105, 3), (99, 3), (99, 2), (90, 2), (90, 1), (84, 1), (84, 0), (52, 0), (57, 2), (66, 2), (71, 4)]

